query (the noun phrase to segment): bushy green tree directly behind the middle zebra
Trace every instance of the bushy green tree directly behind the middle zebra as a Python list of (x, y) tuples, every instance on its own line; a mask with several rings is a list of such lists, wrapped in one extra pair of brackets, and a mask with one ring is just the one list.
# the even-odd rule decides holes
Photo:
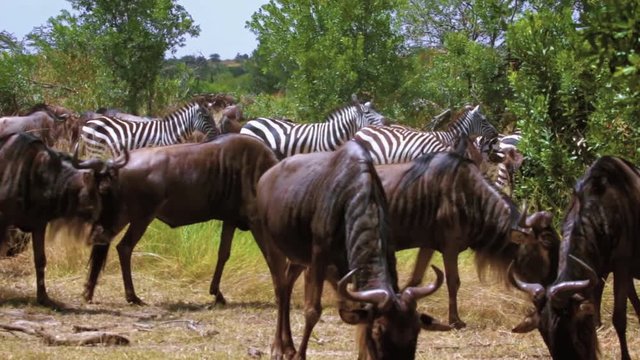
[(352, 93), (388, 99), (402, 82), (402, 38), (393, 27), (397, 0), (271, 0), (248, 27), (254, 61), (302, 115), (323, 118)]

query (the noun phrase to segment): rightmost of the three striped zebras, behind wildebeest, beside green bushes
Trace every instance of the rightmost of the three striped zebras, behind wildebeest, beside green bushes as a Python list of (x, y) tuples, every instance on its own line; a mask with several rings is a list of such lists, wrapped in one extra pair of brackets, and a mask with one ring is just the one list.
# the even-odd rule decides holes
[(354, 138), (367, 144), (375, 164), (409, 162), (422, 154), (446, 151), (461, 137), (485, 139), (498, 135), (480, 112), (480, 107), (465, 107), (447, 131), (422, 132), (402, 125), (369, 126), (359, 130)]

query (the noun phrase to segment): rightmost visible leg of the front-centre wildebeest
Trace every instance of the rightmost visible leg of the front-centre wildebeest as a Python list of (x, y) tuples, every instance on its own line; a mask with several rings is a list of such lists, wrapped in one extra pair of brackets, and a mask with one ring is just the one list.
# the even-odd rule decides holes
[(316, 326), (322, 314), (322, 286), (327, 266), (322, 256), (314, 256), (312, 265), (305, 272), (304, 281), (304, 333), (300, 341), (300, 347), (296, 359), (305, 359), (311, 331)]

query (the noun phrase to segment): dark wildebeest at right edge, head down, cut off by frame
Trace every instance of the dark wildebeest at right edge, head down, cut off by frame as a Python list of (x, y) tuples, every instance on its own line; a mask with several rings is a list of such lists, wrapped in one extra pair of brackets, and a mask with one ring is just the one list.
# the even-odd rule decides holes
[(613, 326), (621, 357), (629, 359), (626, 306), (627, 296), (635, 296), (633, 278), (640, 275), (639, 219), (640, 170), (617, 157), (596, 160), (574, 188), (555, 281), (545, 287), (514, 278), (536, 308), (514, 330), (537, 327), (554, 359), (595, 359), (601, 278), (613, 273)]

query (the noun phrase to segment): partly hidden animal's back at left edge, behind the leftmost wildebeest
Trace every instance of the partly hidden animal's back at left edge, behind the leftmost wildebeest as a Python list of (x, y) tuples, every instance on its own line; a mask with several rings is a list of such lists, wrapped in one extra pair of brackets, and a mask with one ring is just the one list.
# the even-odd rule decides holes
[(47, 146), (53, 146), (62, 133), (67, 116), (58, 107), (39, 104), (26, 115), (1, 117), (0, 136), (27, 132), (42, 139)]

